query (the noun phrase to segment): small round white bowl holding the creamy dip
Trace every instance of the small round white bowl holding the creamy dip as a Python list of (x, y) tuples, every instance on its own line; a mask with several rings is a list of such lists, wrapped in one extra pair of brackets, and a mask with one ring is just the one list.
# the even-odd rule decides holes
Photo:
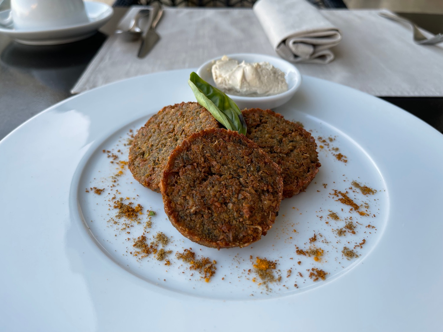
[[(226, 54), (229, 59), (234, 59), (239, 62), (245, 60), (245, 62), (269, 62), (272, 66), (280, 69), (284, 72), (284, 78), (288, 83), (288, 91), (284, 93), (279, 93), (273, 96), (266, 97), (243, 97), (243, 96), (228, 96), (237, 104), (238, 108), (276, 108), (284, 103), (288, 102), (292, 96), (294, 96), (295, 91), (299, 89), (302, 82), (302, 76), (294, 65), (287, 62), (286, 60), (272, 57), (270, 55), (264, 54), (253, 54), (253, 53), (238, 53), (238, 54)], [(198, 76), (202, 77), (203, 80), (208, 82), (210, 85), (217, 86), (212, 78), (211, 68), (216, 60), (220, 60), (221, 56), (218, 58), (211, 59), (197, 70)]]

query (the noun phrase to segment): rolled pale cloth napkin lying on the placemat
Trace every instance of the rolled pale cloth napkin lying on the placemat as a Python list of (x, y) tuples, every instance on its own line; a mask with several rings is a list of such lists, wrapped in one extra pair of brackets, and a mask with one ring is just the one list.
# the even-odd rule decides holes
[(253, 10), (274, 50), (290, 62), (329, 63), (342, 39), (307, 0), (258, 0)]

